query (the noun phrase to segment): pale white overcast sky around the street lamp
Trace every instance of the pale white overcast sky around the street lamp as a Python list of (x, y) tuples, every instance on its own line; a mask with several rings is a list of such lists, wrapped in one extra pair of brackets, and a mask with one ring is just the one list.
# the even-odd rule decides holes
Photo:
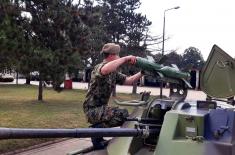
[[(152, 21), (152, 35), (162, 36), (166, 12), (166, 53), (182, 54), (190, 46), (198, 48), (206, 60), (214, 44), (235, 57), (235, 5), (233, 0), (140, 0), (140, 12)], [(160, 45), (162, 47), (162, 45)]]

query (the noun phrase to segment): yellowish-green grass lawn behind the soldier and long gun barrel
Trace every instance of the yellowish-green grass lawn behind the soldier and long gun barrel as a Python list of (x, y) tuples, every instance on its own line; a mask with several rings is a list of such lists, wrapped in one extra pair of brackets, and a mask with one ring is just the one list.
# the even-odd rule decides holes
[[(0, 85), (0, 127), (17, 128), (82, 128), (87, 127), (82, 103), (84, 90), (60, 93), (44, 89), (44, 101), (37, 101), (38, 87)], [(123, 100), (138, 95), (117, 94)], [(112, 100), (110, 100), (110, 104)], [(0, 140), (0, 153), (39, 144), (51, 139)]]

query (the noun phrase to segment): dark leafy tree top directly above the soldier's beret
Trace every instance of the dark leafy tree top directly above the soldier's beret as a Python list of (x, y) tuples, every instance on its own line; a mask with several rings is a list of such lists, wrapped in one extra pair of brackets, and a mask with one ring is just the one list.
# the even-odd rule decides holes
[(102, 22), (110, 41), (138, 45), (144, 40), (151, 22), (135, 10), (139, 0), (98, 0), (102, 6)]

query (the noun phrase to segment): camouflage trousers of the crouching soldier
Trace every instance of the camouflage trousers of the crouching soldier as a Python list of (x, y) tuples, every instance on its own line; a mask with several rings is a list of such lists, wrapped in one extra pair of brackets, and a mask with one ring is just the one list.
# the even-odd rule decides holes
[(101, 124), (104, 128), (121, 126), (129, 116), (126, 109), (108, 106), (89, 108), (85, 114), (89, 123)]

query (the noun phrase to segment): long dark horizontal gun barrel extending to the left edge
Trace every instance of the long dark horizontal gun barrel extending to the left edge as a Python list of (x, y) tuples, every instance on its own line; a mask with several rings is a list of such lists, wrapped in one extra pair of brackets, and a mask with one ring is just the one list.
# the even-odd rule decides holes
[(131, 128), (76, 128), (76, 129), (25, 129), (0, 128), (0, 139), (25, 138), (86, 138), (86, 137), (146, 137), (159, 135), (160, 129)]

